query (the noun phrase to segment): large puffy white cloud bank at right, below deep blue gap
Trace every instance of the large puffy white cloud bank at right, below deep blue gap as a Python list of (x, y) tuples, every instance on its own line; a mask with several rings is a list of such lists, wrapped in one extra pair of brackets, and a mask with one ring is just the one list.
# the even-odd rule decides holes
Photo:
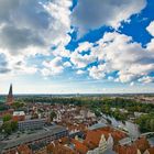
[[(94, 44), (81, 43), (70, 54), (70, 62), (76, 68), (88, 69), (89, 76), (95, 79), (110, 75), (109, 79), (114, 81), (131, 82), (154, 70), (153, 48), (153, 40), (146, 47), (142, 47), (140, 43), (133, 42), (131, 36), (112, 32), (106, 33)], [(84, 54), (87, 51), (90, 52)], [(98, 66), (89, 65), (96, 62)], [(111, 76), (112, 73), (117, 75)]]

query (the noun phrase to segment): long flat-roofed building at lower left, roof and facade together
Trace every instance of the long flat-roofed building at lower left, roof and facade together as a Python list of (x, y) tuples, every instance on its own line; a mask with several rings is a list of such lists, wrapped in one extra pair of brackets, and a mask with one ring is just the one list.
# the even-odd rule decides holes
[(0, 141), (0, 154), (15, 151), (20, 145), (33, 145), (35, 143), (50, 144), (51, 142), (68, 136), (68, 132), (61, 125), (48, 127), (47, 129), (35, 131), (30, 134), (12, 138), (10, 140)]

